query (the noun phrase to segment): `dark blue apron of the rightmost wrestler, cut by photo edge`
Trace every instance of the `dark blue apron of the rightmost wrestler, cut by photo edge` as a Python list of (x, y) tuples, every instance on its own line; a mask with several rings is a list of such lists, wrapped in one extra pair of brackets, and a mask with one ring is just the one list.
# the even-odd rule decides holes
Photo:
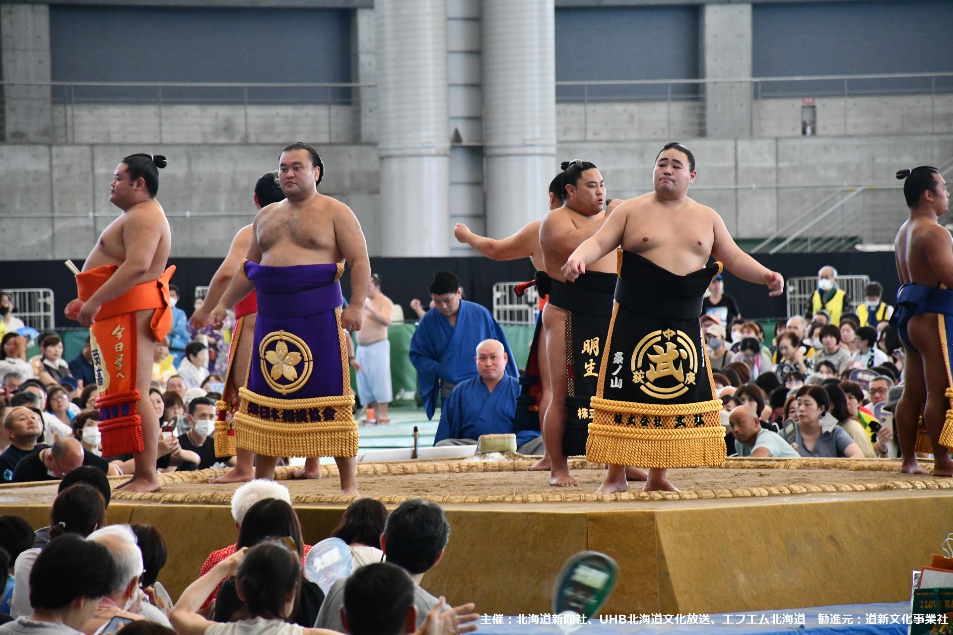
[[(940, 345), (943, 349), (943, 364), (946, 367), (946, 390), (944, 396), (949, 400), (943, 431), (940, 433), (940, 445), (953, 449), (953, 373), (950, 372), (950, 347), (953, 346), (953, 289), (944, 285), (927, 287), (907, 283), (897, 290), (897, 308), (890, 318), (890, 326), (897, 329), (903, 346), (917, 350), (910, 342), (907, 327), (910, 318), (921, 313), (936, 313), (939, 327)], [(933, 444), (923, 427), (923, 415), (917, 424), (917, 452), (932, 452)]]

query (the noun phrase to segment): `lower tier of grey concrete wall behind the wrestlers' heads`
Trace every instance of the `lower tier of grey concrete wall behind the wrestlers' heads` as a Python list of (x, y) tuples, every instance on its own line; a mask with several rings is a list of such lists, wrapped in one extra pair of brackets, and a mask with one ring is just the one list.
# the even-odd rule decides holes
[[(890, 183), (897, 169), (941, 165), (953, 157), (953, 134), (856, 137), (788, 137), (715, 140), (683, 138), (698, 158), (699, 176), (690, 195), (719, 211), (739, 238), (761, 238), (833, 189), (778, 188), (779, 185)], [(559, 157), (579, 157), (598, 165), (611, 197), (629, 198), (651, 187), (651, 166), (659, 141), (563, 141)], [(158, 200), (173, 231), (172, 254), (221, 256), (234, 232), (251, 222), (251, 189), (274, 169), (279, 145), (155, 146), (169, 157), (160, 175)], [(0, 145), (0, 224), (3, 260), (82, 258), (99, 231), (115, 217), (109, 203), (112, 170), (136, 146)], [(381, 252), (381, 219), (391, 213), (379, 196), (379, 160), (374, 145), (327, 145), (320, 151), (328, 167), (321, 191), (355, 210), (372, 255)], [(454, 154), (451, 180), (476, 173), (479, 155)], [(751, 185), (756, 188), (752, 189)], [(740, 189), (707, 189), (723, 186)], [(864, 194), (870, 210), (869, 237), (887, 236), (902, 222), (905, 206), (898, 190)], [(465, 205), (461, 200), (456, 205)], [(90, 218), (90, 213), (95, 218)], [(185, 218), (186, 212), (191, 214)], [(477, 225), (474, 229), (479, 229)], [(826, 225), (822, 230), (837, 230)], [(856, 235), (856, 228), (843, 228)], [(878, 239), (880, 240), (880, 238)], [(462, 253), (462, 252), (461, 252)]]

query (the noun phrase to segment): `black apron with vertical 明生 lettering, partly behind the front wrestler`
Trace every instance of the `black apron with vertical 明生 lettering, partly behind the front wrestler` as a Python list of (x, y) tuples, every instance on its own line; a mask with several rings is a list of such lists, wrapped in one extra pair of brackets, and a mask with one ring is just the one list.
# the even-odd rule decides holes
[(612, 320), (612, 294), (617, 280), (615, 273), (590, 271), (574, 283), (552, 281), (549, 302), (566, 311), (566, 427), (562, 436), (562, 452), (566, 456), (579, 456), (586, 451), (586, 437), (593, 420), (589, 402), (596, 396), (600, 355)]

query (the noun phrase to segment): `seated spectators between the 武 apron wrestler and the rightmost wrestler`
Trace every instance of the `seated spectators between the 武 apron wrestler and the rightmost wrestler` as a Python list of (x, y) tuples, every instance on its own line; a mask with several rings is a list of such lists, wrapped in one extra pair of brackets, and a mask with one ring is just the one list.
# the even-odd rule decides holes
[[(702, 308), (701, 325), (729, 455), (898, 456), (892, 410), (904, 358), (888, 324), (893, 308), (871, 283), (855, 310), (836, 276), (821, 268), (813, 312), (779, 322), (770, 339), (740, 316), (720, 279), (712, 282), (718, 302)], [(736, 315), (727, 327), (726, 313)]]

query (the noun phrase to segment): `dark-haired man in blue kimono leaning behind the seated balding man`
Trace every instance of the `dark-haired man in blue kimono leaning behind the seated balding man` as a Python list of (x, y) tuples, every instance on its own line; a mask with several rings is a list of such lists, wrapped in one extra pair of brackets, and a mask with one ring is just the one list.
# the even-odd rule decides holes
[(476, 376), (473, 350), (483, 340), (502, 342), (506, 374), (519, 377), (513, 351), (506, 336), (486, 308), (462, 298), (462, 289), (452, 271), (440, 271), (430, 281), (434, 308), (424, 313), (411, 339), (411, 364), (417, 371), (420, 400), (427, 418), (434, 418), (436, 397), (443, 400), (465, 379)]

